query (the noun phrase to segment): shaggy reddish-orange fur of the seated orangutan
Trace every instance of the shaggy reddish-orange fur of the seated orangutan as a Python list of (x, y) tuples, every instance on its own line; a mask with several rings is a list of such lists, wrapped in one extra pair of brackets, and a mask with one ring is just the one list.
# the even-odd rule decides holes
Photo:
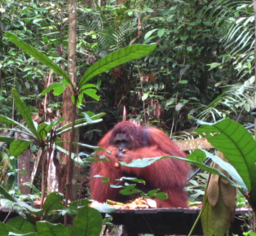
[[(125, 133), (127, 136), (132, 137), (135, 143), (134, 149), (119, 151), (118, 148), (109, 145), (118, 133)], [(165, 155), (186, 157), (186, 154), (161, 130), (152, 127), (137, 127), (127, 121), (120, 122), (99, 141), (99, 146), (111, 151), (113, 155), (105, 151), (98, 151), (97, 154), (105, 155), (109, 162), (100, 161), (91, 165), (90, 190), (92, 199), (99, 202), (105, 202), (106, 199), (128, 202), (138, 197), (138, 194), (126, 196), (119, 194), (120, 188), (110, 188), (109, 184), (102, 184), (102, 180), (93, 177), (94, 175), (108, 177), (111, 179), (112, 184), (116, 184), (115, 179), (119, 179), (122, 176), (137, 177), (138, 179), (144, 179), (146, 182), (145, 186), (143, 184), (138, 184), (137, 186), (144, 193), (160, 188), (160, 191), (168, 194), (168, 199), (155, 199), (159, 208), (187, 208), (187, 195), (184, 191), (190, 171), (187, 162), (166, 158), (145, 168), (115, 167), (117, 161), (130, 163), (133, 159)]]

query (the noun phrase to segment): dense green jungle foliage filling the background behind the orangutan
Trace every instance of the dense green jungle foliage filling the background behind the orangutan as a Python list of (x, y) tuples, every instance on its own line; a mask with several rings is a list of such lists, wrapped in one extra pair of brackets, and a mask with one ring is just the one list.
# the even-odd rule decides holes
[[(137, 43), (157, 43), (155, 50), (147, 56), (111, 68), (91, 79), (90, 83), (97, 89), (97, 95), (83, 94), (79, 114), (86, 118), (90, 115), (92, 120), (97, 122), (80, 128), (80, 143), (96, 145), (107, 130), (126, 119), (137, 119), (141, 124), (158, 126), (168, 135), (177, 138), (182, 135), (195, 136), (193, 131), (197, 125), (189, 116), (211, 123), (230, 118), (243, 126), (253, 124), (250, 111), (254, 107), (255, 25), (251, 1), (77, 1), (77, 10), (78, 83), (88, 68), (109, 53)], [(64, 88), (55, 86), (49, 93), (42, 91), (62, 81), (62, 78), (13, 44), (5, 32), (16, 35), (66, 71), (68, 14), (67, 1), (0, 0), (0, 115), (8, 118), (5, 124), (0, 124), (0, 128), (9, 128), (8, 124), (15, 124), (10, 119), (19, 124), (24, 123), (26, 110), (19, 110), (17, 104), (26, 104), (33, 114), (31, 118), (38, 124), (61, 117)], [(101, 112), (105, 113), (103, 122), (98, 122), (99, 117), (93, 114)], [(27, 117), (25, 122), (28, 120)], [(62, 133), (59, 122), (61, 120), (51, 126), (56, 126), (57, 135)], [(38, 130), (32, 130), (31, 137), (38, 133)], [(216, 130), (218, 132), (218, 129)], [(50, 129), (47, 131), (51, 132)], [(239, 128), (239, 132), (244, 130)], [(204, 136), (205, 133), (201, 131), (200, 135)], [(232, 135), (233, 133), (228, 134)], [(45, 141), (45, 137), (40, 137), (40, 141), (36, 140), (38, 146)], [(52, 144), (55, 144), (56, 140), (52, 141)], [(44, 145), (41, 147), (45, 148)], [(251, 147), (255, 149), (254, 144)], [(91, 150), (87, 148), (86, 145), (81, 148), (80, 151), (84, 152), (81, 157), (90, 155)], [(33, 153), (33, 146), (30, 149)], [(34, 153), (37, 153), (37, 150), (34, 150)], [(243, 157), (245, 156), (243, 154)], [(9, 170), (16, 171), (15, 159), (5, 162), (6, 157), (6, 154), (2, 155), (1, 176), (5, 174), (3, 170), (8, 167)], [(250, 161), (255, 163), (253, 157)], [(90, 164), (86, 161), (83, 166), (87, 168), (88, 165)], [(239, 163), (236, 169), (240, 167)], [(211, 168), (205, 169), (209, 173), (216, 173), (216, 170)], [(12, 171), (8, 172), (9, 176), (13, 175)], [(196, 181), (190, 180), (187, 191), (191, 205), (197, 205), (197, 200), (202, 201), (207, 178), (208, 173), (201, 173)], [(253, 186), (254, 171), (250, 178)], [(9, 190), (15, 182), (13, 179), (10, 183), (10, 179), (6, 178), (9, 182), (5, 183)], [(237, 181), (236, 178), (234, 180)], [(79, 194), (81, 197), (87, 197), (84, 176), (79, 181), (81, 186), (82, 182), (85, 182), (84, 192)], [(236, 185), (233, 180), (229, 181)], [(251, 194), (248, 187), (250, 181), (241, 187), (242, 194)], [(35, 184), (34, 195), (29, 196), (30, 200), (40, 196), (42, 188), (37, 189), (40, 184)], [(253, 200), (255, 193), (251, 194)], [(1, 194), (3, 195), (3, 190)], [(9, 195), (6, 194), (5, 197), (9, 198)], [(248, 199), (250, 198), (249, 196)], [(47, 199), (50, 202), (62, 202), (63, 196), (52, 193)], [(16, 201), (13, 198), (9, 200)], [(237, 206), (244, 206), (245, 202), (241, 195), (237, 197)], [(73, 204), (77, 206), (77, 202)], [(72, 213), (73, 205), (70, 206)], [(56, 209), (44, 205), (44, 213), (42, 210), (35, 213), (33, 209), (26, 208), (24, 215), (29, 217), (35, 214), (42, 219), (42, 216), (48, 217), (47, 214), (51, 213), (51, 210), (64, 208), (63, 204)], [(91, 209), (84, 207), (81, 208), (83, 214), (78, 214), (97, 214), (90, 211)], [(60, 215), (60, 212), (57, 214)], [(48, 219), (47, 217), (45, 219)], [(55, 216), (49, 216), (51, 217)], [(78, 225), (76, 223), (74, 228)], [(101, 226), (101, 223), (97, 224)], [(40, 227), (39, 223), (38, 232)], [(95, 235), (99, 234), (98, 228)], [(6, 229), (6, 235), (8, 231), (11, 230)]]

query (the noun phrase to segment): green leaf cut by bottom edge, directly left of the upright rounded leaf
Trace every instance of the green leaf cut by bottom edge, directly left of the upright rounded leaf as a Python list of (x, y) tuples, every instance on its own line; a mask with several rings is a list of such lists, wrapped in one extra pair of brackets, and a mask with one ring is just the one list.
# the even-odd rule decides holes
[[(49, 222), (37, 222), (36, 227), (37, 227), (37, 232), (39, 235), (70, 236), (69, 231), (63, 224), (51, 224)], [(83, 235), (83, 234), (81, 234), (81, 235)]]

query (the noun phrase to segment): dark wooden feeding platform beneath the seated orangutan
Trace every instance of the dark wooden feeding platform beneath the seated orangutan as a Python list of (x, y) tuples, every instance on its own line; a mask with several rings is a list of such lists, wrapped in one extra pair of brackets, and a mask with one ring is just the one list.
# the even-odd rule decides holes
[[(124, 225), (129, 235), (146, 233), (188, 235), (200, 210), (191, 208), (115, 209), (108, 214), (113, 217), (112, 223)], [(229, 233), (243, 235), (244, 220), (240, 216), (250, 212), (248, 209), (236, 209)], [(193, 235), (204, 235), (200, 220), (194, 228)]]

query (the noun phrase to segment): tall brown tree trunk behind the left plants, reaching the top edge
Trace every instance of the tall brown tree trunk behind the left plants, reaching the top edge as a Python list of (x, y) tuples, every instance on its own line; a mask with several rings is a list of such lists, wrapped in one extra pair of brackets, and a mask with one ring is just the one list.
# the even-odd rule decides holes
[[(77, 24), (77, 3), (76, 0), (69, 0), (69, 49), (67, 57), (67, 70), (69, 77), (76, 87), (76, 24)], [(68, 86), (63, 93), (63, 106), (62, 106), (62, 117), (65, 119), (63, 125), (72, 121), (73, 115), (77, 116), (77, 110), (71, 100), (73, 95), (73, 90), (71, 86)], [(72, 112), (76, 110), (76, 112)], [(61, 139), (63, 141), (63, 148), (68, 151), (76, 152), (76, 148), (73, 147), (69, 150), (69, 142), (72, 137), (71, 132), (63, 133)], [(78, 132), (75, 137), (78, 137)], [(75, 138), (74, 141), (77, 141)], [(58, 175), (59, 191), (61, 193), (65, 192), (65, 184), (70, 185), (68, 188), (68, 199), (73, 201), (77, 198), (77, 164), (69, 160), (68, 155), (61, 153), (61, 163), (58, 165)], [(69, 176), (70, 174), (70, 176)]]

